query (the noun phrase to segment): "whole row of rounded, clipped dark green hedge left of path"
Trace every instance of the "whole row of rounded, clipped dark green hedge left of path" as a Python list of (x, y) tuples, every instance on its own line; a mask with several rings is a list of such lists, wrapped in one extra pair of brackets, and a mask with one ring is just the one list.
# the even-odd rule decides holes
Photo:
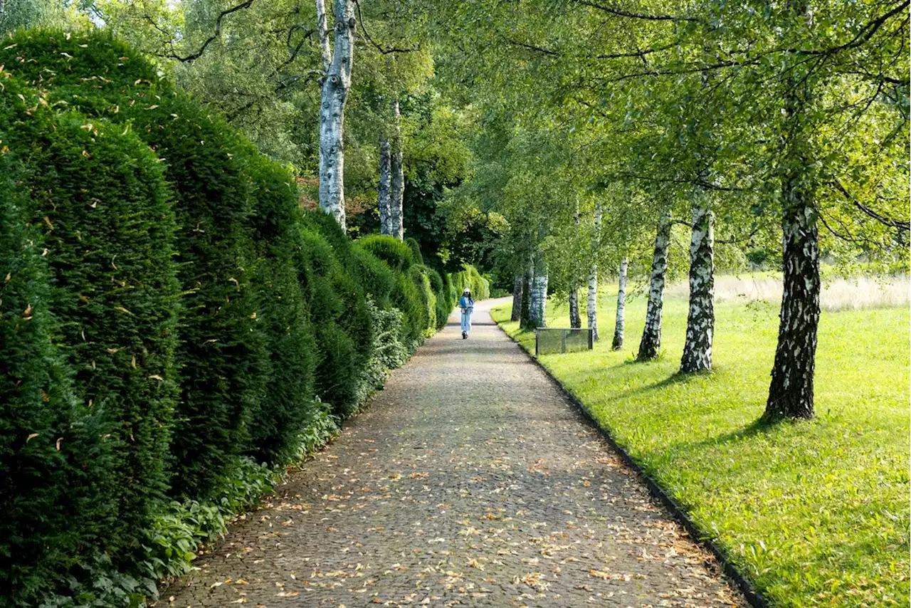
[(455, 294), (414, 245), (301, 211), (288, 170), (110, 36), (3, 46), (0, 596), (135, 603), (185, 565), (194, 500), (255, 499)]

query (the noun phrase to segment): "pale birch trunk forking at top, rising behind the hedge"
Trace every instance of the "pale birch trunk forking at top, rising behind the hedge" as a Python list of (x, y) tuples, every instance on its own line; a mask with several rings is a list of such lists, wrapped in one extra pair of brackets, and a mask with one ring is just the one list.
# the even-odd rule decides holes
[[(323, 61), (328, 48), (323, 0), (316, 0), (317, 26)], [(334, 0), (335, 36), (332, 57), (322, 79), (320, 104), (320, 209), (332, 213), (345, 230), (344, 214), (344, 107), (351, 90), (354, 57), (354, 5), (352, 0)]]

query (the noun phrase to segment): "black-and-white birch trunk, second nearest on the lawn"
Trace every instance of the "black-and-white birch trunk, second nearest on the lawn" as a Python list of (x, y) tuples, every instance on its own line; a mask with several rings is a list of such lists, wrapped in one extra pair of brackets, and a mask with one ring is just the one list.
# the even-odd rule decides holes
[(715, 332), (715, 217), (706, 192), (694, 193), (690, 240), (690, 314), (681, 372), (711, 369), (711, 342)]

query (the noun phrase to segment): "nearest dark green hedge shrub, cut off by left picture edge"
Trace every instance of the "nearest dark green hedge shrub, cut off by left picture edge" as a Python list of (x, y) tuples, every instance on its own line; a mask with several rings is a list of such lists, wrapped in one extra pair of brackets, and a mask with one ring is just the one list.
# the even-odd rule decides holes
[(32, 605), (113, 533), (116, 440), (103, 407), (74, 397), (54, 345), (51, 271), (8, 181), (13, 154), (0, 156), (0, 597)]

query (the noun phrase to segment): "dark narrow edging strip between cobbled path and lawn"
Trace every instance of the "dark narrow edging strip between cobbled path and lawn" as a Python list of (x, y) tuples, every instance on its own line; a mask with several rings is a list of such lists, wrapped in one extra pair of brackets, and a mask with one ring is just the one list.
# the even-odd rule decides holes
[(513, 344), (517, 345), (522, 354), (527, 356), (532, 363), (541, 369), (548, 376), (548, 378), (550, 378), (550, 380), (558, 386), (560, 392), (563, 393), (563, 396), (566, 397), (570, 403), (576, 406), (582, 416), (584, 416), (589, 421), (589, 424), (592, 427), (598, 429), (601, 437), (605, 438), (610, 447), (619, 454), (620, 459), (623, 460), (623, 463), (630, 469), (633, 469), (640, 476), (640, 479), (645, 482), (645, 486), (649, 489), (649, 493), (652, 495), (652, 497), (656, 500), (659, 500), (660, 503), (664, 505), (665, 509), (670, 511), (670, 514), (673, 516), (674, 520), (677, 520), (677, 522), (680, 523), (681, 526), (683, 526), (683, 528), (690, 534), (690, 538), (694, 542), (701, 545), (703, 549), (711, 552), (711, 554), (715, 556), (715, 559), (718, 560), (719, 565), (722, 567), (722, 572), (724, 572), (725, 576), (727, 576), (737, 585), (737, 588), (740, 589), (741, 593), (743, 593), (744, 597), (746, 597), (746, 601), (750, 603), (753, 608), (773, 608), (772, 605), (766, 601), (763, 595), (756, 591), (752, 582), (743, 576), (742, 572), (737, 569), (733, 562), (728, 558), (727, 553), (722, 551), (722, 548), (719, 547), (715, 541), (711, 540), (711, 536), (707, 532), (702, 531), (701, 528), (697, 526), (693, 520), (691, 520), (690, 515), (685, 510), (683, 510), (679, 504), (677, 504), (677, 501), (673, 500), (670, 497), (670, 494), (661, 488), (658, 482), (655, 481), (655, 479), (652, 479), (652, 477), (646, 473), (645, 470), (642, 469), (635, 460), (632, 459), (630, 453), (627, 452), (627, 450), (621, 445), (619, 445), (617, 440), (610, 434), (610, 431), (599, 424), (598, 420), (591, 415), (591, 412), (589, 412), (589, 408), (585, 407), (585, 404), (582, 403), (582, 401), (579, 400), (579, 398), (576, 397), (572, 391), (564, 386), (563, 383), (559, 381), (557, 376), (554, 376), (553, 373), (551, 373), (547, 366), (538, 361), (536, 357), (532, 356), (525, 348), (523, 348), (521, 343), (513, 338), (513, 336), (509, 335), (499, 323), (494, 321), (494, 325), (496, 325), (496, 328), (503, 332), (503, 335), (506, 335)]

